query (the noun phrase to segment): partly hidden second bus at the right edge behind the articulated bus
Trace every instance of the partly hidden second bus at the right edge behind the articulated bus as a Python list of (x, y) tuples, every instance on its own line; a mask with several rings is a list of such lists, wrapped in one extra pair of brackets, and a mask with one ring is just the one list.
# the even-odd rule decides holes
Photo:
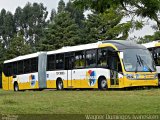
[(152, 54), (152, 57), (156, 64), (156, 69), (158, 73), (159, 85), (160, 85), (160, 41), (152, 41), (142, 44), (144, 45)]

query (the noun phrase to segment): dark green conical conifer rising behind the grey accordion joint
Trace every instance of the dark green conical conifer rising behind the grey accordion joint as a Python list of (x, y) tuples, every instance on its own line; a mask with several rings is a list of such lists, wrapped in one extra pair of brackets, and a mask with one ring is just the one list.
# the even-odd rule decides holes
[(46, 29), (45, 35), (41, 44), (42, 50), (53, 50), (80, 43), (78, 25), (68, 12), (57, 14), (54, 22)]

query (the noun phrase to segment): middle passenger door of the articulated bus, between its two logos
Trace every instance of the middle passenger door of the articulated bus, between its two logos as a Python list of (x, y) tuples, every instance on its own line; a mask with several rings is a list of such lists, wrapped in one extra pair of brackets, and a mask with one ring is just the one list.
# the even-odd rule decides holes
[(72, 81), (72, 69), (73, 69), (74, 56), (71, 54), (65, 54), (65, 70), (67, 70), (67, 87), (72, 88), (74, 86)]

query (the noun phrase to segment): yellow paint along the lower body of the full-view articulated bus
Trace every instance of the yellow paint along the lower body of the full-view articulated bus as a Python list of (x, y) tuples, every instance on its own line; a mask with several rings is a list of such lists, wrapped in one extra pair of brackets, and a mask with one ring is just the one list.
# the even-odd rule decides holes
[[(127, 74), (127, 72), (126, 72)], [(128, 73), (128, 74), (135, 74)], [(138, 74), (138, 73), (136, 73)], [(140, 75), (144, 75), (146, 72), (141, 73)], [(146, 77), (153, 78), (155, 72), (148, 73)], [(2, 82), (3, 82), (3, 89), (4, 90), (13, 90), (13, 77), (5, 77), (4, 74), (2, 74)], [(143, 77), (141, 77), (143, 78)], [(68, 83), (71, 83), (72, 86), (69, 86)], [(126, 76), (119, 78), (119, 85), (111, 85), (110, 80), (107, 79), (108, 88), (125, 88), (125, 87), (134, 87), (134, 86), (158, 86), (158, 79), (152, 79), (152, 80), (129, 80), (126, 78)], [(38, 89), (38, 81), (36, 81), (36, 84), (34, 87), (31, 86), (30, 82), (26, 83), (20, 83), (18, 82), (19, 89), (25, 90), (25, 89)], [(96, 81), (94, 86), (89, 86), (88, 80), (63, 80), (63, 86), (64, 88), (98, 88), (98, 80)], [(47, 80), (47, 88), (56, 88), (56, 80)]]

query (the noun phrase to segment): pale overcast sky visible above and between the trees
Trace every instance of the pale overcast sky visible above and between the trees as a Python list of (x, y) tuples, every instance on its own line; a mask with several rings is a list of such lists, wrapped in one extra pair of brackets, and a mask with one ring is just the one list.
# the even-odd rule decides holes
[[(69, 0), (64, 0), (64, 1), (68, 2)], [(43, 5), (47, 7), (48, 12), (50, 12), (53, 8), (57, 9), (59, 0), (0, 0), (0, 10), (4, 8), (5, 10), (10, 11), (14, 14), (15, 9), (18, 6), (23, 8), (27, 2), (43, 3)], [(155, 31), (153, 31), (153, 29), (151, 28), (151, 25), (154, 24), (154, 22), (149, 21), (147, 22), (147, 24), (148, 25), (146, 25), (143, 29), (138, 31), (133, 31), (132, 33), (130, 33), (129, 38), (132, 38), (134, 36), (143, 37), (144, 35), (153, 35)]]

